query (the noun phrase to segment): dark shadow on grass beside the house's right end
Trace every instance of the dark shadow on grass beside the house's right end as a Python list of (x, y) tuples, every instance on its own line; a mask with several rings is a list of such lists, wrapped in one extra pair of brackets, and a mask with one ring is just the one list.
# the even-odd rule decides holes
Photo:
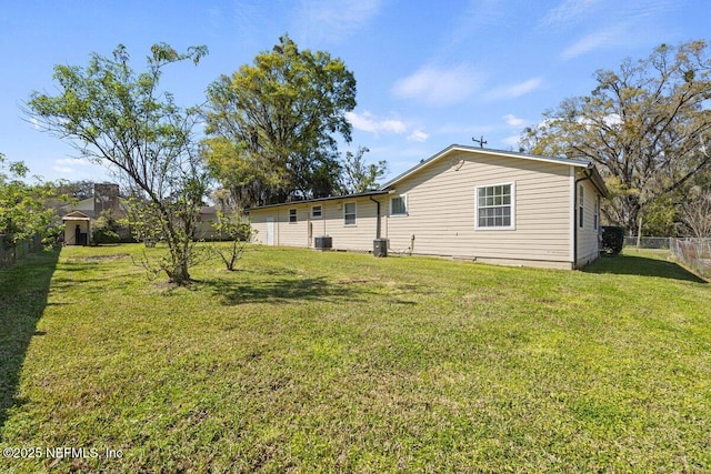
[(585, 266), (585, 273), (612, 273), (617, 275), (658, 276), (670, 280), (683, 280), (694, 283), (707, 283), (674, 262), (658, 260), (642, 255), (621, 254), (598, 259)]

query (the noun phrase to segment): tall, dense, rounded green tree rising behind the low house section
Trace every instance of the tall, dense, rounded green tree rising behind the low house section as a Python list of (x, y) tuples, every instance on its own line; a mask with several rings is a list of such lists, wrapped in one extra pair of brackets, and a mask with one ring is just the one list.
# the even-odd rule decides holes
[(334, 194), (336, 134), (351, 140), (346, 112), (356, 79), (340, 59), (299, 50), (288, 37), (208, 88), (206, 159), (241, 205)]

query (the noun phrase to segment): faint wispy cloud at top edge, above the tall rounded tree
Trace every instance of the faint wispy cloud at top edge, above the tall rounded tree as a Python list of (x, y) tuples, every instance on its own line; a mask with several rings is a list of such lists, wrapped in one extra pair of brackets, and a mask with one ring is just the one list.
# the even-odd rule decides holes
[(380, 13), (381, 0), (302, 0), (297, 30), (304, 36), (338, 42), (370, 24)]

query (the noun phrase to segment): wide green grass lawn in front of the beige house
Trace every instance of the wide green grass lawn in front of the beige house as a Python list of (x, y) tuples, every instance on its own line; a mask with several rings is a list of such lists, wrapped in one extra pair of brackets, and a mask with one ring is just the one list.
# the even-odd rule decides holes
[(141, 251), (0, 271), (0, 447), (40, 455), (0, 472), (711, 471), (711, 289), (660, 255), (251, 248), (174, 289)]

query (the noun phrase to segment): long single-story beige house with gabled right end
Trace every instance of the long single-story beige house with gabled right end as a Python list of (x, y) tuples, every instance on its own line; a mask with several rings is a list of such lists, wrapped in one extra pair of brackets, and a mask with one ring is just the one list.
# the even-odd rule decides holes
[(451, 145), (377, 191), (249, 209), (254, 241), (479, 262), (578, 269), (599, 256), (600, 200), (593, 164)]

